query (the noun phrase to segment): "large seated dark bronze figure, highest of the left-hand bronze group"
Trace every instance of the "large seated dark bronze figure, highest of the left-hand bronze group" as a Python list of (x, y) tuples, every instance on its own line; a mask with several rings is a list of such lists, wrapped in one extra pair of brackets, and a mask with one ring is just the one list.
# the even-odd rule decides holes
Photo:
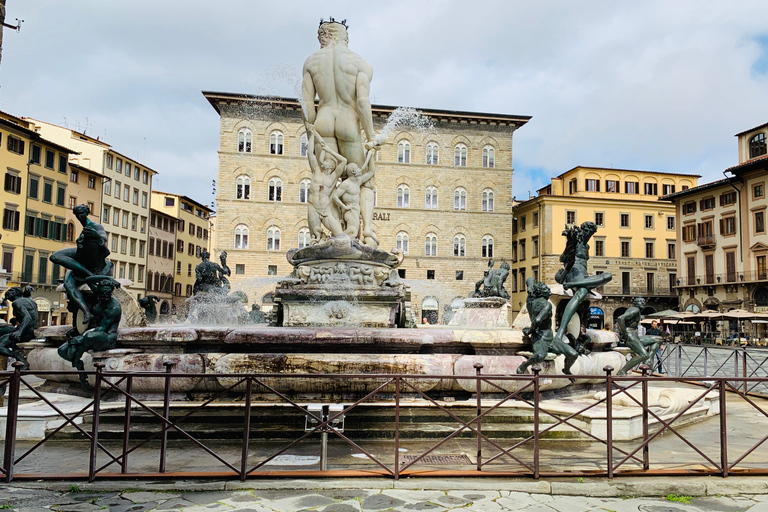
[(77, 205), (73, 213), (83, 231), (77, 237), (77, 247), (74, 249), (62, 249), (51, 255), (51, 262), (67, 269), (64, 274), (64, 290), (69, 299), (70, 311), (75, 313), (80, 310), (83, 314), (82, 321), (85, 325), (91, 321), (91, 312), (80, 286), (85, 284), (91, 276), (111, 276), (114, 273), (114, 264), (107, 259), (107, 232), (101, 224), (97, 224), (88, 218), (91, 209), (86, 205)]

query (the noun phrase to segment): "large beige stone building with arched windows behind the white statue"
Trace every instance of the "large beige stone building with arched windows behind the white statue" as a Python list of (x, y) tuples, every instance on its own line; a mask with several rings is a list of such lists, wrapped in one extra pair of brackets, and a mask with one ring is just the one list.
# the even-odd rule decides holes
[[(204, 92), (221, 116), (216, 253), (229, 253), (233, 289), (268, 303), (292, 267), (285, 253), (310, 241), (310, 170), (299, 102)], [(433, 129), (387, 125), (376, 161), (374, 225), (380, 248), (406, 253), (400, 273), (412, 307), (435, 323), (474, 290), (489, 258), (511, 256), (512, 134), (528, 116), (423, 110)], [(396, 116), (392, 116), (394, 119)]]

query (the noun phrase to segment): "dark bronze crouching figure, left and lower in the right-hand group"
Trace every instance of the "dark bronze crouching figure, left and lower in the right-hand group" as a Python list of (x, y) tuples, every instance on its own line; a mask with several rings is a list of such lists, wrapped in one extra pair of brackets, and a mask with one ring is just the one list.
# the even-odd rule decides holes
[(571, 367), (579, 358), (579, 353), (568, 343), (552, 335), (552, 303), (549, 302), (552, 293), (549, 286), (541, 282), (535, 283), (532, 277), (526, 280), (526, 286), (528, 288), (526, 307), (531, 325), (523, 329), (523, 334), (533, 342), (533, 354), (518, 366), (517, 373), (525, 373), (529, 366), (543, 362), (549, 352), (565, 356), (563, 373), (571, 375)]

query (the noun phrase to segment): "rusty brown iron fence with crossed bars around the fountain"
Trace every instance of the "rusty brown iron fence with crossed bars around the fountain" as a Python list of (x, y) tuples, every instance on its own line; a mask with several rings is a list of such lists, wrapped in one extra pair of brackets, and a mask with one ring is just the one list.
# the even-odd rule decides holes
[[(669, 360), (674, 350), (668, 350)], [(678, 356), (675, 356), (678, 357)], [(680, 356), (682, 357), (682, 355)], [(285, 375), (285, 374), (229, 374), (225, 377), (228, 384), (224, 389), (212, 393), (204, 402), (189, 405), (184, 414), (171, 414), (172, 394), (176, 389), (176, 379), (205, 378), (207, 374), (174, 374), (173, 363), (166, 363), (163, 372), (112, 372), (104, 371), (102, 364), (97, 364), (93, 372), (46, 372), (50, 375), (86, 377), (92, 379), (92, 394), (84, 399), (74, 412), (65, 412), (50, 396), (41, 393), (31, 383), (32, 372), (21, 371), (19, 363), (14, 364), (14, 371), (0, 372), (0, 386), (8, 386), (8, 407), (5, 429), (3, 464), (0, 467), (6, 482), (15, 479), (96, 479), (107, 478), (247, 478), (259, 477), (323, 477), (323, 476), (387, 476), (394, 479), (411, 476), (517, 476), (540, 478), (542, 476), (617, 476), (646, 475), (718, 475), (727, 477), (731, 474), (768, 475), (768, 458), (759, 451), (768, 435), (757, 442), (739, 437), (729, 437), (728, 399), (734, 397), (743, 401), (755, 418), (755, 431), (765, 432), (768, 423), (768, 411), (759, 399), (747, 394), (754, 384), (768, 382), (764, 377), (743, 375), (734, 377), (685, 377), (686, 382), (704, 386), (697, 390), (695, 397), (672, 413), (662, 414), (649, 403), (649, 387), (654, 384), (680, 384), (681, 379), (669, 376), (650, 375), (648, 366), (641, 367), (641, 374), (617, 376), (613, 368), (606, 366), (604, 375), (568, 376), (541, 374), (534, 368), (528, 375), (491, 375), (481, 373), (482, 365), (475, 365), (476, 375)], [(40, 372), (37, 372), (38, 374)], [(161, 379), (163, 383), (162, 400), (148, 400), (134, 392), (141, 379)], [(308, 381), (333, 380), (350, 385), (366, 385), (366, 392), (361, 398), (347, 403), (328, 414), (319, 414), (302, 402), (290, 398), (280, 391), (276, 383), (289, 382), (292, 379)], [(420, 384), (425, 380), (451, 379), (471, 383), (473, 403), (471, 414), (458, 412), (449, 403), (438, 400), (428, 394)], [(551, 405), (542, 399), (542, 387), (557, 379), (585, 379), (602, 389), (603, 395), (595, 395), (590, 403), (578, 404), (572, 410), (555, 412)], [(29, 396), (37, 399), (54, 411), (60, 424), (45, 432), (42, 440), (25, 442), (18, 438), (18, 428), (23, 421), (20, 418), (20, 396), (25, 390)], [(188, 428), (194, 417), (216, 400), (230, 392), (242, 393), (242, 402), (238, 403), (234, 423), (242, 425), (242, 435), (228, 443), (216, 443), (195, 435)], [(110, 395), (109, 401), (105, 400)], [(281, 413), (288, 417), (306, 418), (307, 425), (295, 432), (288, 440), (256, 440), (252, 428), (254, 400), (269, 395), (284, 407)], [(712, 396), (716, 395), (716, 397)], [(362, 437), (355, 437), (340, 427), (339, 420), (352, 411), (381, 401), (383, 397), (394, 406), (391, 418), (391, 439), (371, 443)], [(680, 430), (682, 418), (702, 401), (714, 400), (719, 407), (717, 428), (705, 429), (703, 437), (686, 436)], [(492, 398), (492, 401), (490, 400)], [(451, 427), (444, 431), (439, 440), (413, 441), (403, 434), (404, 423), (409, 419), (404, 415), (404, 400), (417, 401), (421, 407), (430, 408), (444, 418)], [(530, 432), (516, 438), (506, 439), (493, 434), (492, 415), (504, 404), (515, 401), (525, 407), (531, 417)], [(614, 428), (621, 420), (614, 404), (617, 400), (639, 407), (641, 414), (641, 435), (636, 440), (617, 441)], [(116, 439), (100, 438), (100, 423), (105, 418), (105, 407), (121, 404), (118, 409), (122, 414), (122, 429)], [(747, 404), (747, 405), (744, 405)], [(731, 405), (733, 403), (731, 402)], [(113, 407), (114, 409), (114, 407)], [(604, 410), (605, 429), (600, 433), (588, 430), (583, 421), (585, 413)], [(143, 420), (156, 422), (158, 428), (150, 434), (132, 437), (134, 411), (143, 413)], [(464, 411), (466, 413), (466, 411)], [(114, 411), (113, 411), (114, 413)], [(86, 420), (86, 421), (83, 421)], [(88, 426), (90, 421), (90, 426)], [(761, 428), (761, 423), (762, 428)], [(709, 424), (707, 424), (709, 425)], [(732, 427), (732, 426), (731, 426)], [(87, 460), (66, 471), (52, 462), (57, 455), (57, 436), (68, 429), (83, 439), (84, 454)], [(577, 433), (581, 440), (569, 443), (553, 440), (555, 434), (562, 435), (563, 429)], [(169, 434), (176, 439), (171, 442)], [(311, 442), (316, 434), (335, 436), (339, 450), (355, 452), (359, 465), (332, 464), (331, 468), (323, 464), (320, 469), (290, 469), (277, 465), (275, 461), (302, 443)], [(443, 434), (441, 434), (442, 436)], [(662, 437), (664, 436), (664, 437)], [(281, 436), (275, 436), (281, 437)], [(758, 436), (760, 437), (760, 436)], [(665, 439), (674, 439), (680, 447), (686, 448), (694, 456), (693, 461), (681, 463), (669, 459), (669, 450), (658, 447)], [(474, 461), (466, 463), (448, 463), (435, 467), (434, 460), (444, 454), (446, 449), (454, 449), (458, 441), (470, 452)], [(79, 446), (79, 445), (78, 445)], [(183, 449), (182, 449), (183, 447)], [(405, 458), (406, 447), (411, 453)], [(653, 447), (653, 448), (652, 448)], [(207, 457), (205, 470), (192, 467), (190, 462), (201, 458), (192, 457), (192, 449), (199, 450), (202, 457)], [(677, 450), (677, 448), (676, 448)], [(71, 452), (71, 450), (70, 450)], [(141, 458), (138, 457), (142, 454)], [(148, 464), (147, 454), (152, 454), (152, 467)], [(42, 462), (31, 464), (32, 458)], [(48, 459), (46, 459), (48, 457)], [(186, 458), (185, 458), (186, 457)], [(140, 460), (139, 460), (140, 459)], [(173, 459), (173, 461), (171, 461)], [(749, 459), (749, 460), (747, 460)], [(133, 462), (132, 462), (133, 461)], [(136, 467), (138, 466), (138, 467)], [(270, 468), (270, 466), (272, 466)], [(57, 469), (58, 468), (58, 469)]]

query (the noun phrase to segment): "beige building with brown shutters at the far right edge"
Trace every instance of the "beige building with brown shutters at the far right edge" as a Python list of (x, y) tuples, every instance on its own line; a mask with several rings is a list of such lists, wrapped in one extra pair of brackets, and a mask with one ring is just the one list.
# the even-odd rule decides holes
[(677, 291), (685, 310), (768, 312), (767, 136), (768, 123), (737, 134), (730, 176), (664, 197), (680, 219)]

